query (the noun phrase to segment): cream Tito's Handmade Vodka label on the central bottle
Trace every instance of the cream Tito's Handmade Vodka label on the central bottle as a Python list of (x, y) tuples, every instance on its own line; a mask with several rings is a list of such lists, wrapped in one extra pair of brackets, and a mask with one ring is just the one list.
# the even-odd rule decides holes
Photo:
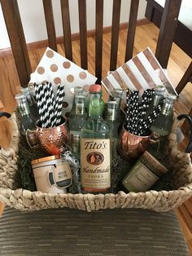
[(110, 139), (81, 139), (81, 185), (86, 192), (111, 187)]

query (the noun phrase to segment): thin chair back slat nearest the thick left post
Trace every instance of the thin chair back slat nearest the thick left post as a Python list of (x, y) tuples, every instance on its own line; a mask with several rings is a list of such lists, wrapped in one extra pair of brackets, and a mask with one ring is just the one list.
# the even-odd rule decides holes
[(51, 49), (57, 51), (55, 22), (51, 0), (43, 0), (43, 8), (46, 18), (46, 31), (48, 36), (48, 42)]

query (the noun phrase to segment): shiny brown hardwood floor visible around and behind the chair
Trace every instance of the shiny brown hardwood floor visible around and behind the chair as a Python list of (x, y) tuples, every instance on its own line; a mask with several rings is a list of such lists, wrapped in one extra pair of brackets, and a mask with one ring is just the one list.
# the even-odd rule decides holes
[[(139, 51), (143, 51), (147, 46), (155, 52), (155, 46), (159, 29), (154, 24), (145, 24), (137, 26), (136, 39), (133, 55)], [(124, 64), (124, 42), (126, 40), (125, 30), (120, 31), (120, 50), (118, 51), (118, 66)], [(105, 33), (103, 36), (103, 77), (107, 75), (109, 70), (109, 48), (110, 48), (111, 34)], [(33, 71), (37, 67), (41, 56), (46, 48), (32, 49), (30, 51), (30, 60), (32, 62)], [(63, 45), (58, 46), (58, 51), (64, 55)], [(75, 54), (74, 62), (80, 65), (80, 48), (78, 41), (73, 42), (73, 52)], [(94, 39), (88, 40), (88, 55), (89, 55), (89, 72), (94, 74)], [(190, 64), (190, 57), (181, 51), (175, 44), (172, 45), (172, 52), (168, 62), (168, 77), (172, 81), (173, 86), (177, 86), (185, 69)], [(15, 108), (14, 95), (20, 90), (19, 79), (16, 74), (15, 64), (12, 55), (4, 55), (0, 61), (0, 108), (12, 112)], [(188, 83), (181, 95), (177, 99), (175, 108), (177, 113), (189, 113), (192, 107), (192, 86)], [(2, 104), (2, 105), (1, 105)], [(0, 214), (3, 210), (3, 205), (0, 203)], [(190, 252), (192, 255), (192, 198), (186, 201), (177, 210), (177, 217), (181, 223), (185, 239), (188, 242)]]

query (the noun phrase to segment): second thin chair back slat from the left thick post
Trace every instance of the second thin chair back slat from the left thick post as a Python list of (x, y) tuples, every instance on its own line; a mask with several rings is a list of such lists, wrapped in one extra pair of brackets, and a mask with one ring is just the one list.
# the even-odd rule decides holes
[(63, 21), (63, 38), (64, 38), (65, 56), (68, 60), (72, 60), (72, 33), (71, 33), (68, 0), (60, 0), (60, 2), (61, 2), (61, 13), (62, 13), (62, 21)]

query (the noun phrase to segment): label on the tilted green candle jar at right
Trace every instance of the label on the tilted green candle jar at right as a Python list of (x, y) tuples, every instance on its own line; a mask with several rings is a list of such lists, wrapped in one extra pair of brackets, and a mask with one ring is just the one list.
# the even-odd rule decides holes
[(139, 165), (123, 181), (124, 187), (134, 192), (146, 192), (159, 179), (151, 170), (144, 165)]

